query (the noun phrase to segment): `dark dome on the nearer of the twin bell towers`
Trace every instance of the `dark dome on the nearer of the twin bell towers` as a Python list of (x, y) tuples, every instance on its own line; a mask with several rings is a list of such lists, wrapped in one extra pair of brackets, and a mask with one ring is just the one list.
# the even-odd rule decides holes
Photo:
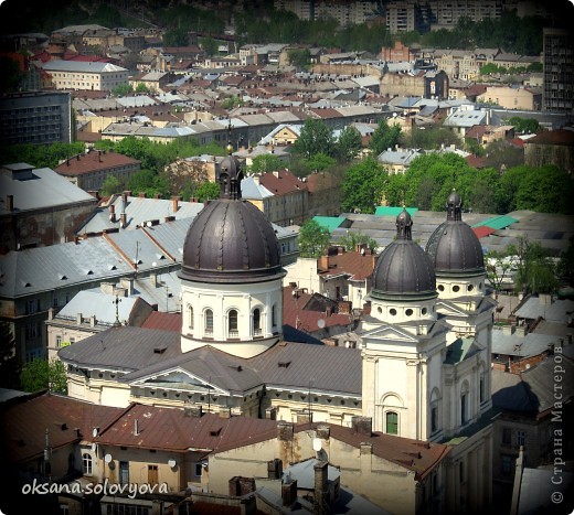
[(425, 251), (412, 240), (411, 215), (396, 217), (396, 239), (379, 256), (373, 270), (371, 296), (378, 299), (436, 297), (436, 278)]

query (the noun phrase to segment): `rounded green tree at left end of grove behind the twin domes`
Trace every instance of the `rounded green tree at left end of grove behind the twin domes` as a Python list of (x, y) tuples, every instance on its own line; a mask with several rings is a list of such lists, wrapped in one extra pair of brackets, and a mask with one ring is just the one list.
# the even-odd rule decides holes
[(354, 164), (343, 179), (341, 208), (348, 213), (374, 213), (381, 204), (386, 180), (386, 170), (373, 158)]

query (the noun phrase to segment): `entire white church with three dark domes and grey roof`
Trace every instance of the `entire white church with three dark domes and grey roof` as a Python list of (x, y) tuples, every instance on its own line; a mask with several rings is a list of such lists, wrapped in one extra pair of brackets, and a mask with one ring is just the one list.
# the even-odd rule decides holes
[(113, 328), (61, 350), (70, 395), (294, 423), (368, 418), (380, 433), (447, 443), (439, 512), (483, 512), (492, 496), (493, 302), (458, 194), (426, 251), (412, 239), (408, 213), (398, 215), (373, 272), (361, 348), (343, 348), (285, 341), (277, 239), (241, 199), (242, 176), (228, 155), (220, 200), (188, 232), (181, 334)]

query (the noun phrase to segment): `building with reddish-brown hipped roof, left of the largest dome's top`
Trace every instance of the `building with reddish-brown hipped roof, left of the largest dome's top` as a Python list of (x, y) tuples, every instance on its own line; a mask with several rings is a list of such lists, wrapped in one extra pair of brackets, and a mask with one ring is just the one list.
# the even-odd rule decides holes
[(85, 191), (99, 191), (108, 176), (127, 184), (129, 178), (141, 169), (141, 162), (117, 152), (88, 150), (66, 159), (54, 169), (72, 184)]

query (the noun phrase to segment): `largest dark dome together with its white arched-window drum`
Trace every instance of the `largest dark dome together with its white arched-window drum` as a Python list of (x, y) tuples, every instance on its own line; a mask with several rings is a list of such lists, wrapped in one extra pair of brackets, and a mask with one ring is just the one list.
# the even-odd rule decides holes
[(181, 350), (210, 345), (252, 357), (280, 337), (285, 271), (272, 224), (241, 196), (243, 172), (232, 150), (216, 176), (220, 199), (201, 211), (185, 236)]

